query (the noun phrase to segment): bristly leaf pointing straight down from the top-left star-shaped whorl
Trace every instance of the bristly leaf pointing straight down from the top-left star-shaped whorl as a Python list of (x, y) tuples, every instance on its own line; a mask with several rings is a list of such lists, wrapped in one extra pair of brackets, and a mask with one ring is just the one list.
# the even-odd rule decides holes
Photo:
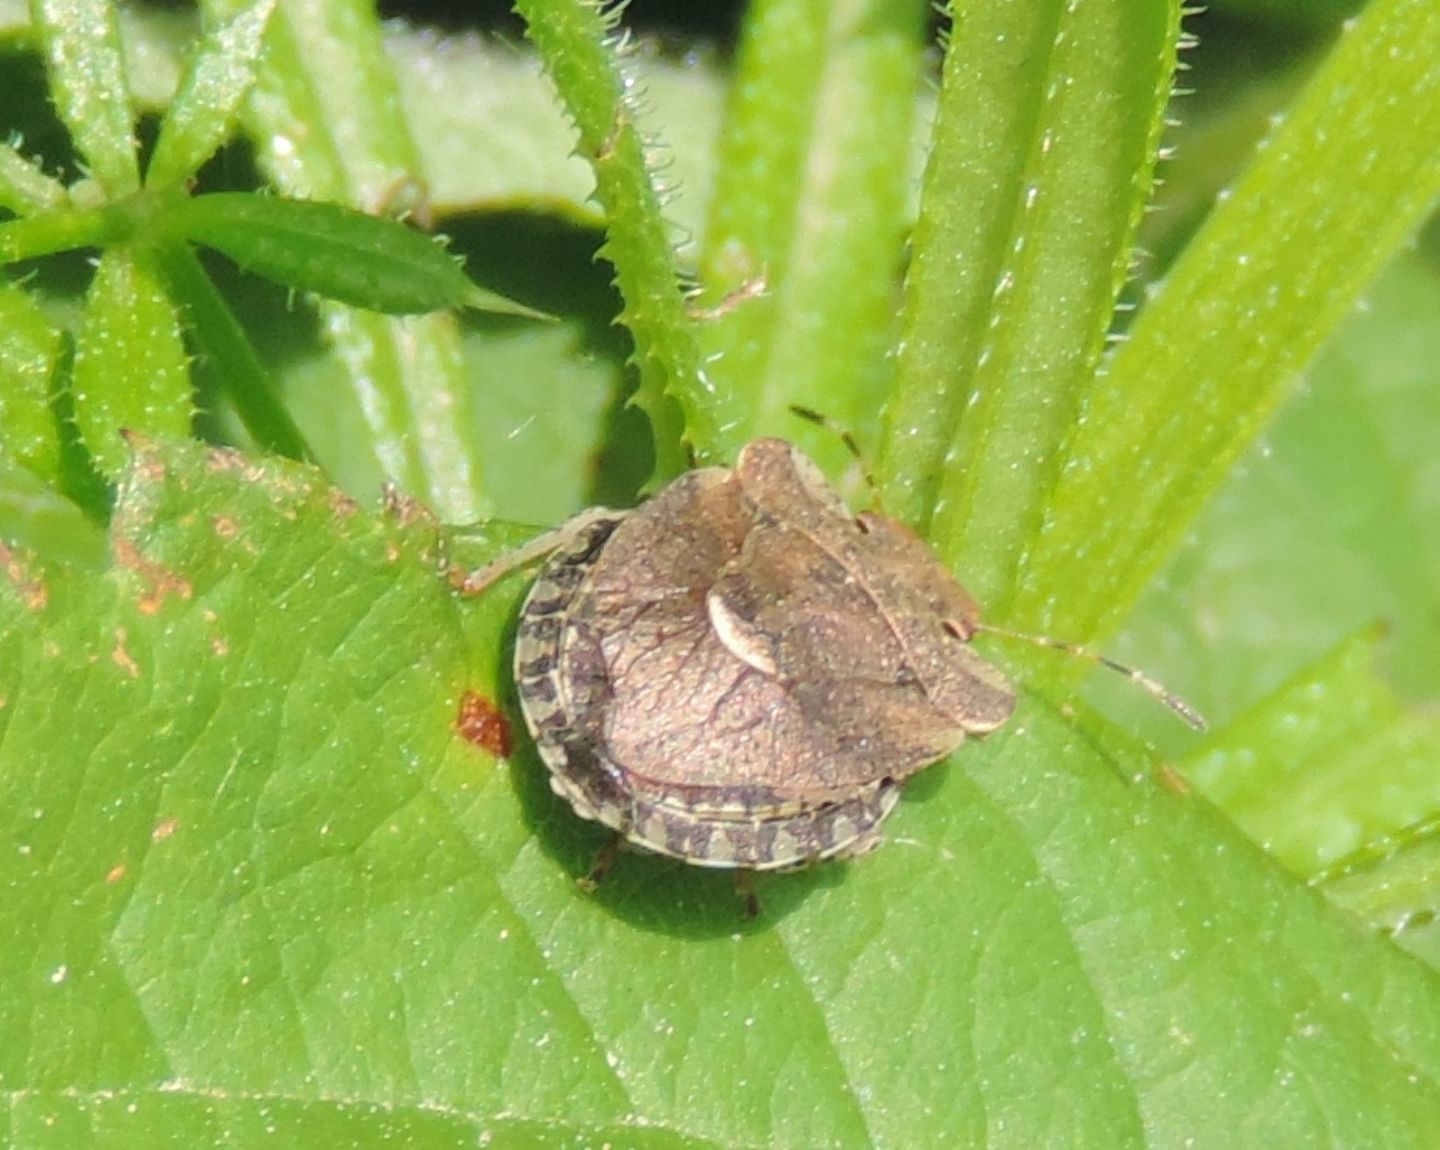
[(75, 426), (114, 479), (130, 459), (122, 432), (189, 435), (194, 415), (180, 321), (137, 252), (112, 248), (95, 269), (75, 337)]

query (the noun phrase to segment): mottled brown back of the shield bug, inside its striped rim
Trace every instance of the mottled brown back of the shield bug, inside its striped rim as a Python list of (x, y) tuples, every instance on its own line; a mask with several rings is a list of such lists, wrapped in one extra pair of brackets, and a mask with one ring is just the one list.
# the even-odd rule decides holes
[(1009, 712), (1004, 679), (933, 610), (926, 630), (904, 596), (877, 600), (890, 580), (855, 570), (865, 534), (779, 448), (770, 502), (694, 472), (632, 514), (592, 573), (575, 626), (609, 668), (606, 751), (641, 779), (815, 799), (903, 777), (963, 738), (973, 704), (956, 705), (948, 676), (973, 665)]

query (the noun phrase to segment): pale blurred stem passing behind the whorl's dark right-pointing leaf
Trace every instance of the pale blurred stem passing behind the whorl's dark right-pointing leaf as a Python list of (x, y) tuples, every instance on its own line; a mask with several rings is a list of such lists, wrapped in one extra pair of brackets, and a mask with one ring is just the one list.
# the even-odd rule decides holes
[[(206, 12), (236, 6), (212, 0)], [(420, 170), (372, 4), (287, 0), (271, 20), (245, 127), (261, 167), (292, 197), (423, 210)], [(469, 427), (472, 397), (454, 317), (389, 320), (321, 305), (325, 338), (364, 413), (389, 481), (444, 520), (491, 510)]]

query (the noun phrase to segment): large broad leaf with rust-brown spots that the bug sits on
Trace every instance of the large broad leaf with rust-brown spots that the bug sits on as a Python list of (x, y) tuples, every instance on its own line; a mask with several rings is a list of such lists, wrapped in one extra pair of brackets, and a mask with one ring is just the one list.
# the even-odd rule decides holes
[(464, 692), (505, 698), (524, 580), (462, 602), (426, 518), (192, 446), (141, 449), (112, 531), (104, 577), (12, 554), (0, 580), (16, 1146), (1421, 1147), (1440, 1123), (1440, 980), (1093, 720), (1027, 698), (876, 855), (765, 879), (755, 923), (658, 859), (590, 897), (602, 836), (527, 751), (454, 728)]

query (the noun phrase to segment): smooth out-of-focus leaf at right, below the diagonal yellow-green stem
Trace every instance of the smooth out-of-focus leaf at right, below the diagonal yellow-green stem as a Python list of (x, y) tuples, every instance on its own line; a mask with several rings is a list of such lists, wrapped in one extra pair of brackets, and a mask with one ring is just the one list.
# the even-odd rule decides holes
[[(1223, 725), (1380, 622), (1385, 678), (1410, 698), (1433, 697), (1437, 360), (1440, 279), (1407, 253), (1205, 508), (1113, 653)], [(1151, 731), (1182, 753), (1168, 734)]]

